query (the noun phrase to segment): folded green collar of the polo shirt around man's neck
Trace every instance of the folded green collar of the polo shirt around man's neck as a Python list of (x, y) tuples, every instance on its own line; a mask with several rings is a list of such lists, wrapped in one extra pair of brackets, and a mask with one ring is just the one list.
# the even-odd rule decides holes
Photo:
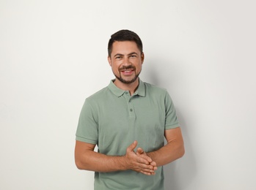
[[(118, 97), (122, 96), (125, 93), (125, 91), (115, 86), (113, 81), (114, 80), (111, 80), (108, 86), (110, 91)], [(134, 95), (145, 96), (145, 85), (140, 79), (139, 79), (139, 87), (134, 92)]]

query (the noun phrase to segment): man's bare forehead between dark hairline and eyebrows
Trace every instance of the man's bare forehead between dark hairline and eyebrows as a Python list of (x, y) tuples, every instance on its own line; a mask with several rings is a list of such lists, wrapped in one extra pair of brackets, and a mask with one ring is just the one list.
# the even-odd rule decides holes
[(116, 53), (120, 54), (129, 54), (132, 52), (136, 52), (139, 54), (139, 48), (136, 45), (136, 42), (132, 41), (115, 41), (112, 45), (112, 53), (111, 55), (115, 55)]

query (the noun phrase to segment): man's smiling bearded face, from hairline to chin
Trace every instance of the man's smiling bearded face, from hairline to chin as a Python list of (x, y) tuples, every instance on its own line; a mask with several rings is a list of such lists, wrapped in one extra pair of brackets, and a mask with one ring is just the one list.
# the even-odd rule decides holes
[(111, 56), (108, 57), (109, 65), (120, 82), (134, 83), (142, 70), (144, 54), (140, 52), (136, 42), (114, 42)]

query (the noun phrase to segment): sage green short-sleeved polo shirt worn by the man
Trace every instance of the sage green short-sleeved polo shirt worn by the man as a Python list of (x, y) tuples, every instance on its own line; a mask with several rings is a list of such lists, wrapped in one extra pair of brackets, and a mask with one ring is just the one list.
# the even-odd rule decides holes
[[(175, 107), (164, 88), (139, 80), (131, 96), (111, 81), (85, 100), (76, 140), (98, 145), (99, 153), (122, 156), (134, 140), (146, 152), (158, 150), (164, 146), (164, 130), (178, 126)], [(95, 172), (95, 189), (162, 190), (163, 168), (150, 176), (132, 170)]]

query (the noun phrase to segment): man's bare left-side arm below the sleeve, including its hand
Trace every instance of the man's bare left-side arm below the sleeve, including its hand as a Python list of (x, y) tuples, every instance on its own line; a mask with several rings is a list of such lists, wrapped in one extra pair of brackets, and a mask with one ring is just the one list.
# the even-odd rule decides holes
[(138, 156), (134, 152), (138, 142), (134, 141), (126, 148), (124, 156), (108, 156), (94, 151), (95, 145), (76, 141), (75, 161), (80, 170), (95, 172), (114, 172), (134, 170), (145, 175), (154, 175), (156, 163), (149, 156)]

